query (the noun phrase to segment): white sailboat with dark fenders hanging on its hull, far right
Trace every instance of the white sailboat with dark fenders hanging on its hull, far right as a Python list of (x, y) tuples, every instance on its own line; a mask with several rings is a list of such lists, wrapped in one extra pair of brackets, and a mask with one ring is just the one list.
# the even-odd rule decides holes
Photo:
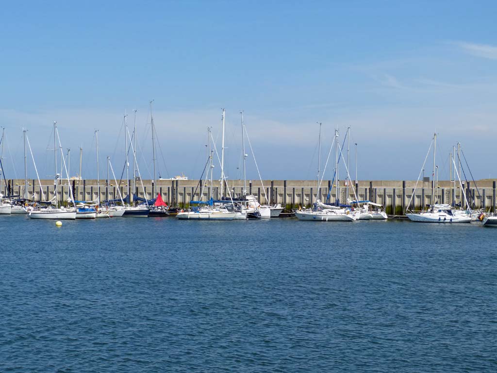
[[(435, 200), (435, 170), (437, 166), (435, 165), (435, 155), (436, 155), (436, 139), (437, 135), (436, 133), (433, 134), (433, 139), (431, 144), (433, 144), (433, 173), (432, 173), (432, 181), (431, 181), (431, 204), (428, 208), (427, 211), (412, 211), (410, 210), (411, 203), (413, 201), (414, 197), (414, 192), (417, 187), (417, 183), (419, 182), (419, 178), (421, 177), (421, 172), (419, 173), (419, 177), (416, 181), (416, 185), (414, 186), (413, 190), (413, 195), (411, 196), (411, 199), (409, 200), (409, 203), (406, 208), (406, 216), (409, 218), (409, 220), (414, 221), (414, 222), (422, 222), (422, 223), (471, 223), (472, 220), (472, 212), (471, 210), (469, 211), (469, 214), (460, 214), (460, 213), (454, 213), (452, 210), (452, 207), (448, 204), (439, 204)], [(431, 150), (431, 144), (428, 149), (428, 153), (426, 154), (426, 157), (424, 158), (422, 170), (424, 169), (424, 165), (426, 163), (426, 159), (428, 158), (429, 152)], [(454, 160), (452, 160), (454, 162)], [(455, 166), (455, 163), (454, 163)], [(455, 167), (454, 167), (455, 168)], [(455, 173), (457, 174), (457, 177), (459, 179), (459, 183), (461, 184), (461, 179), (459, 178), (459, 173), (457, 173), (457, 170), (454, 170)], [(464, 198), (466, 199), (466, 193), (464, 192), (464, 188), (462, 188), (461, 184), (461, 190), (464, 194)], [(466, 200), (466, 205), (468, 205), (468, 202)]]

